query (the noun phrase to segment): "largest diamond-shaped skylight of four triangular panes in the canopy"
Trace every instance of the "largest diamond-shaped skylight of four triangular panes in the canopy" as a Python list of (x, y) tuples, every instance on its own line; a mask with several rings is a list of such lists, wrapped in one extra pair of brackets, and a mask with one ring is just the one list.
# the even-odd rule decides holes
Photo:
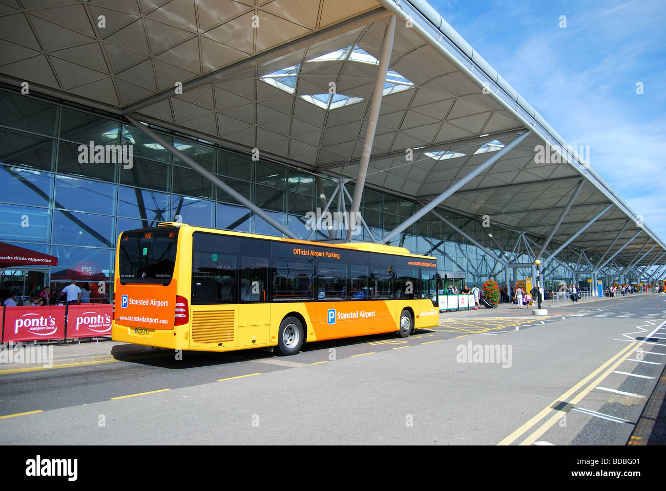
[[(360, 49), (358, 46), (348, 46), (343, 49), (338, 49), (325, 55), (320, 55), (305, 63), (322, 63), (334, 61), (355, 61), (358, 63), (368, 63), (369, 65), (379, 65), (378, 59), (370, 55), (367, 51)], [(268, 75), (261, 77), (261, 80), (270, 84), (284, 92), (290, 94), (296, 93), (296, 82), (300, 74), (300, 67), (302, 65), (292, 65), (284, 69), (278, 70)], [(382, 95), (393, 94), (394, 92), (401, 92), (412, 88), (414, 84), (408, 79), (400, 75), (400, 73), (389, 70), (386, 73), (386, 82), (384, 83), (384, 93)], [(336, 109), (349, 104), (356, 104), (361, 102), (362, 97), (349, 96), (345, 94), (310, 94), (300, 96), (303, 100), (310, 102), (322, 109)]]

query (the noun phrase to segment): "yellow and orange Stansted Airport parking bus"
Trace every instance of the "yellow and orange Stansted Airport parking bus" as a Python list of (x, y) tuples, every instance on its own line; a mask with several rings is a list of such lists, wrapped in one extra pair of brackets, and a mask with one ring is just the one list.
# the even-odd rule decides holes
[(181, 350), (277, 347), (439, 323), (434, 257), (163, 223), (120, 234), (113, 339)]

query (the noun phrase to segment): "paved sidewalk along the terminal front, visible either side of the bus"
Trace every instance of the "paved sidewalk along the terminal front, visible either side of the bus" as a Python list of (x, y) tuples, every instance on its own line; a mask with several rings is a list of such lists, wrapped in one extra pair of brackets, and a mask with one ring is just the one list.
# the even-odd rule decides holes
[[(653, 295), (653, 293), (635, 293), (631, 296), (627, 295), (625, 298), (639, 298), (641, 295)], [(607, 301), (617, 300), (604, 297), (592, 297), (589, 299), (581, 299), (576, 303), (571, 300), (560, 301), (553, 303), (545, 301), (541, 303), (541, 307), (545, 309), (561, 309), (568, 308), (572, 305), (581, 305), (593, 301)], [(517, 315), (532, 315), (532, 310), (536, 307), (525, 307), (518, 309), (513, 303), (500, 303), (496, 309), (486, 309), (480, 307), (478, 310), (462, 310), (440, 313), (440, 321), (450, 319), (466, 319), (470, 317), (508, 317)], [(32, 343), (25, 343), (25, 346), (34, 346)], [(43, 349), (47, 346), (47, 350), (53, 349), (53, 357), (51, 359), (52, 366), (46, 367), (43, 363), (0, 363), (0, 377), (3, 373), (15, 373), (16, 371), (31, 371), (34, 369), (49, 369), (63, 366), (77, 366), (77, 365), (90, 365), (93, 363), (103, 363), (104, 361), (113, 361), (115, 359), (123, 359), (135, 356), (145, 356), (153, 353), (165, 351), (160, 348), (153, 348), (149, 346), (132, 345), (129, 343), (119, 343), (118, 341), (111, 341), (110, 338), (99, 338), (98, 342), (94, 339), (81, 341), (81, 343), (49, 343), (48, 345), (40, 345)], [(5, 345), (5, 349), (7, 345)], [(44, 352), (43, 353), (48, 353)], [(11, 371), (11, 372), (9, 372)]]

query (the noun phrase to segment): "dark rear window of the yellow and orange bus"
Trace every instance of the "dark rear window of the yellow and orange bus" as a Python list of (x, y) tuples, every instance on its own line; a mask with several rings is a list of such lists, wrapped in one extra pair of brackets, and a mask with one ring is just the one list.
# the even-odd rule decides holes
[(168, 285), (176, 263), (178, 228), (123, 232), (119, 244), (121, 284), (159, 283)]

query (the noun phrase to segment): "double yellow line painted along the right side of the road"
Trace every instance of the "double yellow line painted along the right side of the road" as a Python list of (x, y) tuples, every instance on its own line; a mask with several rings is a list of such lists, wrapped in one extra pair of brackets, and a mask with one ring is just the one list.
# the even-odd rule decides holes
[[(583, 397), (585, 397), (587, 394), (589, 394), (603, 379), (605, 379), (609, 373), (613, 372), (623, 361), (625, 361), (629, 356), (631, 356), (631, 353), (633, 352), (633, 349), (635, 349), (637, 346), (643, 344), (644, 341), (633, 341), (632, 343), (629, 343), (629, 346), (625, 347), (619, 353), (617, 353), (615, 356), (611, 357), (608, 361), (606, 361), (601, 367), (597, 368), (595, 371), (587, 375), (585, 379), (581, 380), (579, 383), (571, 387), (568, 391), (563, 393), (559, 398), (557, 398), (551, 405), (549, 405), (547, 408), (541, 410), (539, 414), (531, 418), (529, 421), (527, 421), (525, 424), (523, 424), (520, 428), (515, 430), (513, 433), (509, 434), (506, 438), (501, 440), (498, 445), (510, 445), (513, 443), (515, 440), (517, 440), (523, 433), (527, 432), (529, 428), (534, 426), (537, 422), (545, 418), (548, 414), (550, 414), (551, 411), (555, 411), (555, 414), (551, 416), (546, 422), (541, 424), (536, 430), (534, 430), (525, 440), (523, 440), (520, 445), (531, 445), (533, 442), (539, 438), (542, 434), (544, 434), (553, 424), (555, 424), (565, 412), (557, 409), (553, 409), (553, 405), (557, 403), (567, 403), (566, 406), (571, 408), (571, 406), (577, 404)], [(606, 369), (606, 367), (609, 367)], [(603, 374), (599, 375), (604, 369), (606, 369)], [(599, 375), (599, 377), (597, 377)], [(589, 384), (583, 391), (581, 391), (576, 397), (571, 399), (571, 401), (567, 401), (573, 393), (578, 391), (583, 385), (594, 379), (594, 377), (597, 377), (591, 384)]]

